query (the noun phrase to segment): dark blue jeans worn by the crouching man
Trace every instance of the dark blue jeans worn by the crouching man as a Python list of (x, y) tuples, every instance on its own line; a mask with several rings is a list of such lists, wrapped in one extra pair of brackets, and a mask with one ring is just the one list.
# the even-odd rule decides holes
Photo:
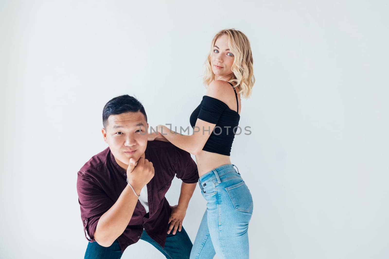
[[(146, 231), (143, 229), (142, 236), (140, 239), (151, 243), (156, 249), (158, 249), (166, 258), (189, 258), (192, 249), (192, 242), (186, 233), (184, 227), (181, 231), (166, 235), (165, 247), (162, 248), (157, 242), (155, 242)], [(129, 246), (131, 249), (131, 245)], [(117, 240), (110, 247), (103, 247), (97, 242), (89, 242), (86, 248), (84, 259), (119, 259), (122, 253)], [(134, 258), (142, 258), (142, 255), (133, 255)]]

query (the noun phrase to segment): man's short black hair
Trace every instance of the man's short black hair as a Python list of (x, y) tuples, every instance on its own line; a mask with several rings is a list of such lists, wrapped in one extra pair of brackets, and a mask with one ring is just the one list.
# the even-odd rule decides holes
[(147, 122), (147, 115), (142, 103), (140, 103), (140, 101), (138, 101), (135, 97), (129, 96), (128, 94), (123, 94), (122, 96), (117, 96), (110, 99), (108, 103), (105, 104), (103, 109), (104, 128), (107, 126), (107, 120), (109, 115), (117, 115), (129, 111), (140, 111), (145, 116)]

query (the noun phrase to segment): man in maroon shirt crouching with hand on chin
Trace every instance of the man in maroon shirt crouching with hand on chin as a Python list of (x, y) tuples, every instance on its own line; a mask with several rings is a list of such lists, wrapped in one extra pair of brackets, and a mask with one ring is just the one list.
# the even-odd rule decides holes
[[(77, 174), (89, 241), (84, 258), (120, 258), (139, 239), (166, 258), (189, 258), (192, 242), (182, 221), (199, 179), (197, 166), (170, 142), (147, 141), (148, 129), (144, 107), (134, 97), (118, 96), (105, 104), (102, 134), (109, 147)], [(182, 185), (178, 205), (171, 207), (165, 194), (174, 176)]]

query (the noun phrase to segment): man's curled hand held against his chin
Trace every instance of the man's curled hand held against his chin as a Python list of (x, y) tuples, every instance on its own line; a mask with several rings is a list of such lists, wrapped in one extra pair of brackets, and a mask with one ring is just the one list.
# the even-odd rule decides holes
[(152, 162), (145, 159), (145, 154), (139, 158), (138, 162), (134, 158), (130, 158), (130, 163), (127, 168), (128, 183), (135, 189), (136, 193), (154, 177), (154, 167)]

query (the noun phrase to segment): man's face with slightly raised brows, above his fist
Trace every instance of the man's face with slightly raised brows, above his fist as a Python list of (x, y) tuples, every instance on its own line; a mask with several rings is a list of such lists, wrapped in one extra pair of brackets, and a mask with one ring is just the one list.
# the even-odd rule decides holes
[(122, 168), (127, 169), (131, 157), (138, 161), (143, 155), (148, 129), (149, 123), (140, 111), (108, 117), (106, 127), (102, 129), (104, 141)]

